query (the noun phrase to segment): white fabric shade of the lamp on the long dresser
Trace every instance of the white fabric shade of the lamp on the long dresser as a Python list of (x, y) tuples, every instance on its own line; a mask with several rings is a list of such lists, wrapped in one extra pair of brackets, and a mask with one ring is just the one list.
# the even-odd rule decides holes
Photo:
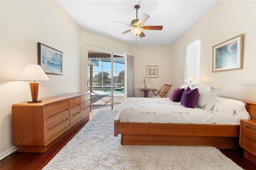
[(50, 81), (42, 67), (38, 64), (28, 64), (16, 80)]

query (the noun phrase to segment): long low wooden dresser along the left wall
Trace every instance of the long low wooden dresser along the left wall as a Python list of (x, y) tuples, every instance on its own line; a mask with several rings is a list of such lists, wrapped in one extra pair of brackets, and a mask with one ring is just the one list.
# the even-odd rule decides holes
[(80, 123), (89, 121), (90, 93), (69, 93), (12, 105), (13, 145), (18, 152), (45, 152)]

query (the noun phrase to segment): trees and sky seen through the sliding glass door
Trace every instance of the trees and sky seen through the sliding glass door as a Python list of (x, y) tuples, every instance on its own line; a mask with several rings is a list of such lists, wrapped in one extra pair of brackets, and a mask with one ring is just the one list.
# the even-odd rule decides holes
[[(113, 82), (115, 87), (124, 87), (124, 64), (114, 63)], [(111, 88), (111, 63), (99, 62), (99, 66), (93, 66), (93, 89)], [(88, 67), (88, 77), (90, 77), (90, 67)], [(90, 79), (89, 80), (89, 84)], [(90, 85), (88, 84), (88, 87)]]

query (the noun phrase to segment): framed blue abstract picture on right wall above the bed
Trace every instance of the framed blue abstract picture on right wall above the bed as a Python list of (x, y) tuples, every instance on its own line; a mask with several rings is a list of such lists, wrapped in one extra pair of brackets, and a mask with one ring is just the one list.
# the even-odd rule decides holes
[(212, 47), (212, 72), (243, 69), (243, 34)]

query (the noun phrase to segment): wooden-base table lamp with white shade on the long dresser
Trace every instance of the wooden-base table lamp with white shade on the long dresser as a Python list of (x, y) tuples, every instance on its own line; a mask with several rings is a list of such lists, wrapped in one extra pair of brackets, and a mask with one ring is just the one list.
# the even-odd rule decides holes
[(16, 80), (33, 81), (29, 83), (32, 101), (28, 103), (41, 102), (37, 100), (39, 82), (36, 81), (50, 81), (42, 67), (37, 64), (28, 64)]

